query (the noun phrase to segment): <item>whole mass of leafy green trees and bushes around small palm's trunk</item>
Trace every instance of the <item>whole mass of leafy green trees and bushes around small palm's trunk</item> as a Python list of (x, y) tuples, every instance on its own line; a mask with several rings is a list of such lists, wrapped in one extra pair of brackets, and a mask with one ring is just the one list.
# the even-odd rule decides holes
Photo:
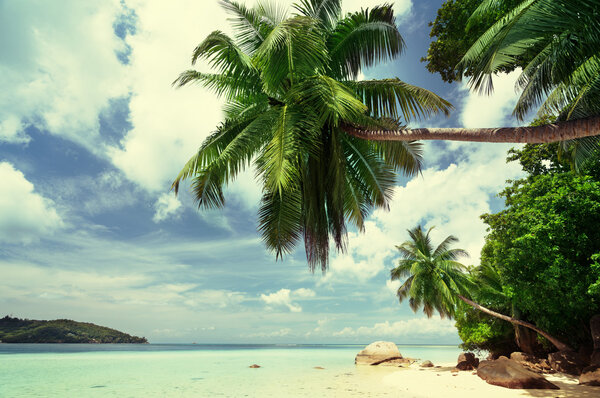
[[(482, 216), (489, 233), (475, 269), (497, 275), (498, 294), (476, 290), (474, 298), (572, 347), (589, 346), (589, 319), (600, 310), (600, 161), (575, 173), (556, 156), (556, 144), (511, 150), (509, 161), (528, 175), (500, 194), (504, 210)], [(467, 348), (502, 351), (515, 337), (522, 351), (544, 348), (535, 336), (515, 336), (469, 307), (456, 318)]]

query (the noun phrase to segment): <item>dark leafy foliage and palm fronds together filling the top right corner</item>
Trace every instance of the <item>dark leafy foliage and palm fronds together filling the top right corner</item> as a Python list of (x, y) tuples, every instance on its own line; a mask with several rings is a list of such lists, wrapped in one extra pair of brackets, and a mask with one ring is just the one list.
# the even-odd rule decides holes
[[(521, 68), (514, 109), (519, 119), (537, 111), (558, 124), (592, 118), (597, 125), (599, 10), (600, 0), (449, 0), (432, 24), (437, 40), (427, 67), (447, 81), (467, 76), (474, 89), (486, 92), (494, 74)], [(563, 156), (579, 167), (598, 156), (596, 135), (553, 141), (561, 141)]]

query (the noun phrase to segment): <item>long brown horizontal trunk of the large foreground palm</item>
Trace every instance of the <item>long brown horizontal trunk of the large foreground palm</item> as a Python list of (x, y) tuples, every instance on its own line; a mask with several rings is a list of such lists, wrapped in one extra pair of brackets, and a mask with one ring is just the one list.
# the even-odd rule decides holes
[(600, 135), (600, 116), (535, 127), (420, 128), (374, 131), (344, 124), (342, 129), (352, 136), (374, 141), (450, 140), (536, 144)]

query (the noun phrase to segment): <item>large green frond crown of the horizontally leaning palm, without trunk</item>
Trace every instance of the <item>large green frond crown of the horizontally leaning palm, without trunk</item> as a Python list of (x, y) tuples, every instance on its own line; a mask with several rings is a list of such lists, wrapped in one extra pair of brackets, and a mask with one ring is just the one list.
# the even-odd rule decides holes
[(302, 0), (294, 13), (276, 3), (231, 0), (236, 36), (211, 33), (193, 52), (215, 73), (188, 70), (176, 86), (198, 83), (227, 100), (225, 120), (173, 183), (191, 179), (198, 206), (224, 206), (223, 187), (251, 164), (263, 186), (259, 226), (276, 258), (303, 239), (311, 270), (326, 270), (330, 241), (344, 249), (347, 223), (362, 230), (386, 208), (396, 172), (415, 175), (421, 144), (365, 142), (344, 125), (397, 128), (448, 113), (437, 95), (399, 79), (355, 81), (360, 71), (402, 52), (389, 4), (341, 14), (340, 0)]

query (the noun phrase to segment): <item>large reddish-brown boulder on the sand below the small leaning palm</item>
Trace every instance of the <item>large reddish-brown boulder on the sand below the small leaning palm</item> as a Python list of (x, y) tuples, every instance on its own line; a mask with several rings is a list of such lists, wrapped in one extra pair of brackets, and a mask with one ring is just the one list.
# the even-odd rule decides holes
[(494, 361), (481, 361), (477, 368), (477, 376), (488, 384), (506, 388), (559, 389), (544, 376), (533, 373), (518, 362), (506, 357), (500, 357)]

